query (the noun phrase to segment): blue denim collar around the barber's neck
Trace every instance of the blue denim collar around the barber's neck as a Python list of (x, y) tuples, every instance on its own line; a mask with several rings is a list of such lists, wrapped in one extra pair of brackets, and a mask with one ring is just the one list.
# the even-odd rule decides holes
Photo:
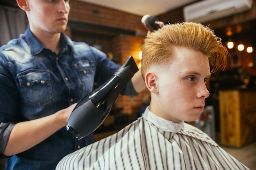
[[(43, 49), (46, 49), (45, 46), (43, 46), (37, 40), (35, 35), (31, 32), (29, 26), (27, 26), (27, 29), (25, 31), (25, 36), (26, 36), (27, 42), (30, 46), (32, 55), (37, 55)], [(70, 49), (72, 49), (72, 41), (69, 38), (67, 38), (64, 33), (61, 33), (60, 44), (61, 44), (61, 49), (65, 49), (67, 47), (67, 45), (70, 46)]]

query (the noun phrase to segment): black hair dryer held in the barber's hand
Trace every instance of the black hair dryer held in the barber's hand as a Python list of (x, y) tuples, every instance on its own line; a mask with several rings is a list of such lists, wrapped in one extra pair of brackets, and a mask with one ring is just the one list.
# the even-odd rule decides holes
[(130, 56), (106, 83), (78, 102), (67, 121), (67, 130), (82, 139), (99, 128), (108, 117), (121, 90), (138, 70)]

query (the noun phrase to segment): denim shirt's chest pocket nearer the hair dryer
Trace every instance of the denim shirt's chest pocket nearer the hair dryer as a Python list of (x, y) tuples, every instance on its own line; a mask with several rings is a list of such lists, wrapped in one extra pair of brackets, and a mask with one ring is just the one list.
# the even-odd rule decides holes
[(79, 74), (83, 91), (92, 91), (94, 83), (93, 62), (89, 60), (80, 60), (79, 62), (74, 64), (74, 66)]

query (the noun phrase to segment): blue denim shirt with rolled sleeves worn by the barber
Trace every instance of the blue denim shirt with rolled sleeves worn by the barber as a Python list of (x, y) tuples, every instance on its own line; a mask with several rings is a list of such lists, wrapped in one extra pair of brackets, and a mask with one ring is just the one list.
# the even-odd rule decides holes
[[(94, 83), (100, 86), (120, 67), (103, 52), (73, 42), (64, 33), (60, 42), (56, 55), (40, 44), (28, 27), (20, 38), (0, 48), (1, 157), (16, 123), (45, 117), (79, 102), (93, 90)], [(126, 95), (137, 94), (131, 83), (126, 89)], [(78, 140), (63, 127), (33, 148), (9, 157), (6, 170), (53, 170), (65, 155), (92, 142), (92, 135)]]

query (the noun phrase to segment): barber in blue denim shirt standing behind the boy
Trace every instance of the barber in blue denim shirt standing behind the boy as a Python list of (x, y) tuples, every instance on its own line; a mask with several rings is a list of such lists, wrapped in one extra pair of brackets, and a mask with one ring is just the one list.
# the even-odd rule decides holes
[[(0, 157), (6, 170), (53, 170), (68, 153), (91, 144), (65, 130), (82, 97), (120, 67), (106, 54), (64, 33), (68, 0), (17, 0), (29, 26), (0, 48)], [(38, 24), (40, 23), (40, 24)], [(145, 88), (138, 71), (123, 91)]]

